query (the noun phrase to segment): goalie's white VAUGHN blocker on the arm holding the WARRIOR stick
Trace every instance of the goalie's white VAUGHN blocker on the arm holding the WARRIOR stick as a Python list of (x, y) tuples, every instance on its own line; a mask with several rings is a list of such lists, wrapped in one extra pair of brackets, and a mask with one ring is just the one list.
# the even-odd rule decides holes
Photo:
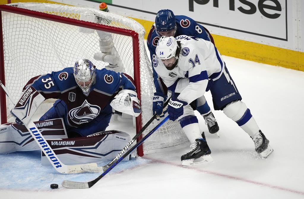
[(29, 86), (22, 93), (11, 113), (27, 124), (44, 100), (45, 98), (34, 87)]

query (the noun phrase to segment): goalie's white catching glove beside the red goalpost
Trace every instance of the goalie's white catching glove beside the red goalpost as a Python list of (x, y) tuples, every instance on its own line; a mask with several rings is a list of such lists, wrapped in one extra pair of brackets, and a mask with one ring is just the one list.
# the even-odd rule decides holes
[(141, 112), (137, 93), (132, 90), (119, 91), (113, 101), (110, 103), (115, 111), (126, 113), (132, 116), (139, 116)]

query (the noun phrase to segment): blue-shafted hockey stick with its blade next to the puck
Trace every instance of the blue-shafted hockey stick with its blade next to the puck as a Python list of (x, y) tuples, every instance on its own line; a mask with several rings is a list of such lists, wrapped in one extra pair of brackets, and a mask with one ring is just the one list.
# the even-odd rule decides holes
[(154, 127), (147, 135), (145, 135), (139, 142), (137, 142), (130, 150), (126, 151), (125, 154), (123, 154), (122, 157), (117, 159), (111, 167), (109, 167), (105, 172), (103, 172), (100, 176), (98, 176), (96, 179), (89, 181), (89, 182), (75, 182), (75, 181), (68, 181), (65, 180), (62, 182), (62, 186), (66, 188), (73, 188), (73, 189), (82, 189), (82, 188), (90, 188), (96, 182), (98, 182), (102, 177), (104, 177), (109, 171), (112, 170), (120, 161), (123, 160), (126, 156), (128, 156), (134, 149), (136, 149), (140, 144), (143, 143), (152, 133), (154, 133), (162, 124), (164, 124), (169, 119), (169, 116), (165, 117), (163, 121), (161, 121), (159, 124), (157, 124), (156, 127)]

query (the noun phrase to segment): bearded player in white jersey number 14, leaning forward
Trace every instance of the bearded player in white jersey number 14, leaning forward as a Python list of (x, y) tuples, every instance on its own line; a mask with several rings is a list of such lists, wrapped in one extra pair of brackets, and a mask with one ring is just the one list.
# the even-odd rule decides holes
[(170, 120), (178, 120), (193, 143), (191, 151), (181, 156), (183, 165), (193, 165), (197, 158), (211, 153), (191, 108), (191, 102), (208, 90), (212, 94), (214, 109), (223, 110), (253, 139), (255, 150), (262, 158), (272, 153), (268, 139), (241, 101), (225, 62), (212, 42), (186, 35), (162, 36), (156, 55), (154, 69), (172, 93), (168, 106)]

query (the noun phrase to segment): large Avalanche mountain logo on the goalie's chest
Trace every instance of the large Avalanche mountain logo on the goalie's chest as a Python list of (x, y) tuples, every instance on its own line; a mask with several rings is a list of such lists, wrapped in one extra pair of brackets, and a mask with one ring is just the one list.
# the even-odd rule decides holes
[(88, 101), (85, 100), (81, 106), (73, 108), (69, 112), (69, 116), (75, 124), (82, 124), (96, 118), (100, 110), (101, 108), (99, 106), (89, 104)]

